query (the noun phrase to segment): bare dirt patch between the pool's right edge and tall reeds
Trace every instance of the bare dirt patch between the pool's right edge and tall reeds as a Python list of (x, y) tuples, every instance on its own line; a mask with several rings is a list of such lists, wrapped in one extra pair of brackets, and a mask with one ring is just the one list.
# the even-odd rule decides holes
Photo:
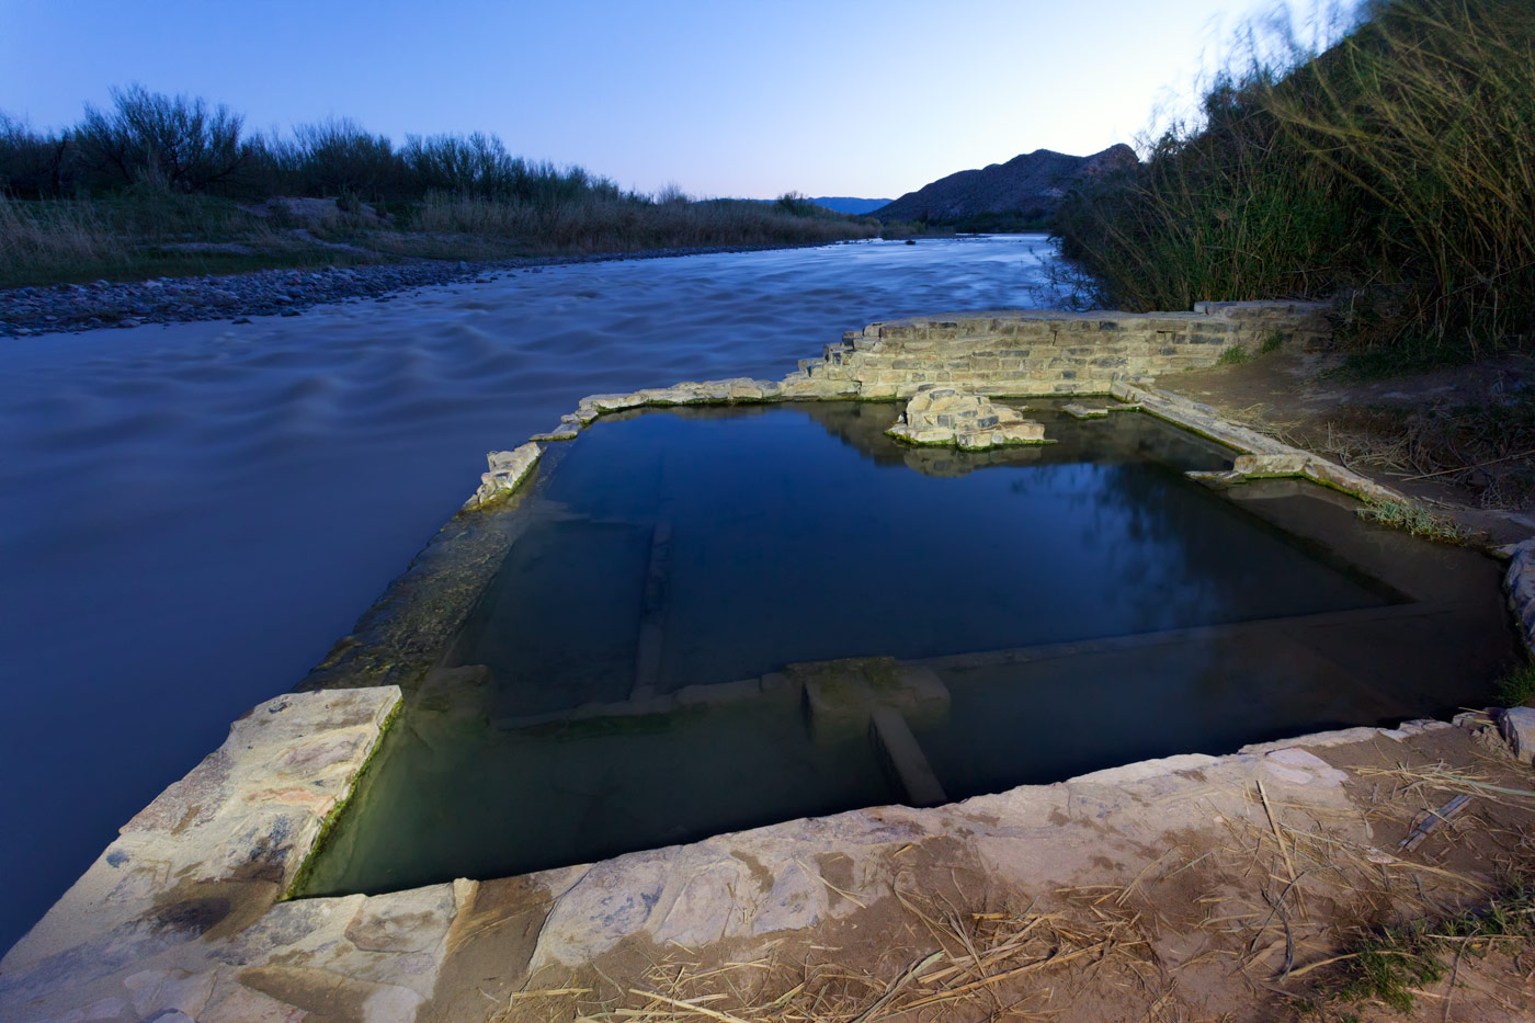
[[(1237, 366), (1164, 376), (1159, 387), (1225, 418), (1343, 462), (1486, 533), (1494, 544), (1535, 533), (1535, 450), (1483, 450), (1446, 430), (1437, 410), (1486, 407), (1535, 386), (1535, 356), (1506, 355), (1389, 379), (1357, 381), (1335, 353), (1289, 346)], [(1474, 425), (1461, 427), (1475, 430)], [(1535, 445), (1529, 445), (1535, 447)], [(1487, 458), (1497, 461), (1490, 464)]]

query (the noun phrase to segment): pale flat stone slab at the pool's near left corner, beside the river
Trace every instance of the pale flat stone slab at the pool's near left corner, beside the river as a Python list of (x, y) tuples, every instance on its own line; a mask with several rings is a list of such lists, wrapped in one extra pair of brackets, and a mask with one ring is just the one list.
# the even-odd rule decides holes
[[(0, 960), (0, 1018), (54, 1018), (60, 1006), (100, 1011), (84, 1018), (163, 1011), (204, 1021), (292, 1018), (276, 1011), (281, 1001), (247, 986), (235, 965), (269, 962), (352, 926), (361, 897), (279, 900), (399, 705), (393, 685), (293, 693), (236, 720), (224, 745), (129, 820)], [(390, 909), (381, 903), (368, 912)], [(358, 926), (358, 949), (387, 943), (387, 923)], [(342, 955), (333, 943), (313, 948), (321, 945), (325, 957)], [(404, 966), (388, 974), (385, 986), (411, 975)], [(289, 980), (273, 985), (287, 989)], [(425, 985), (419, 998), (430, 994)]]

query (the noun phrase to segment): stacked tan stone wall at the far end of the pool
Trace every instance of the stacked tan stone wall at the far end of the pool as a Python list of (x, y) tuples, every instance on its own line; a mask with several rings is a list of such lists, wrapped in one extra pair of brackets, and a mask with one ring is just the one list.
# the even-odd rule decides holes
[(906, 398), (921, 384), (981, 395), (1108, 393), (1116, 381), (1214, 366), (1265, 341), (1315, 344), (1322, 303), (1199, 303), (1187, 313), (1008, 310), (875, 323), (800, 363), (784, 396)]

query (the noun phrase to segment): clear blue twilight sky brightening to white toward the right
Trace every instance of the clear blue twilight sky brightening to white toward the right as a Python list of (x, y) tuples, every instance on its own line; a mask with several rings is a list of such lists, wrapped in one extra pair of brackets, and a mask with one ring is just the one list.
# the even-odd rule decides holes
[(895, 197), (1133, 141), (1251, 0), (0, 0), (0, 111), (140, 81), (249, 127), (496, 132), (692, 195)]

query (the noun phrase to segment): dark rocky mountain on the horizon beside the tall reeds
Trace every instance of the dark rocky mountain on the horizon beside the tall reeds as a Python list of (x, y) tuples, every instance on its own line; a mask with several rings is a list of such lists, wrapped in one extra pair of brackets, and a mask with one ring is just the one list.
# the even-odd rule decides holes
[(1122, 170), (1134, 164), (1136, 152), (1124, 143), (1094, 152), (1091, 157), (1036, 149), (1007, 163), (938, 178), (915, 192), (907, 192), (889, 206), (881, 206), (873, 215), (881, 221), (962, 223), (1008, 218), (1038, 221), (1050, 215), (1078, 178)]

